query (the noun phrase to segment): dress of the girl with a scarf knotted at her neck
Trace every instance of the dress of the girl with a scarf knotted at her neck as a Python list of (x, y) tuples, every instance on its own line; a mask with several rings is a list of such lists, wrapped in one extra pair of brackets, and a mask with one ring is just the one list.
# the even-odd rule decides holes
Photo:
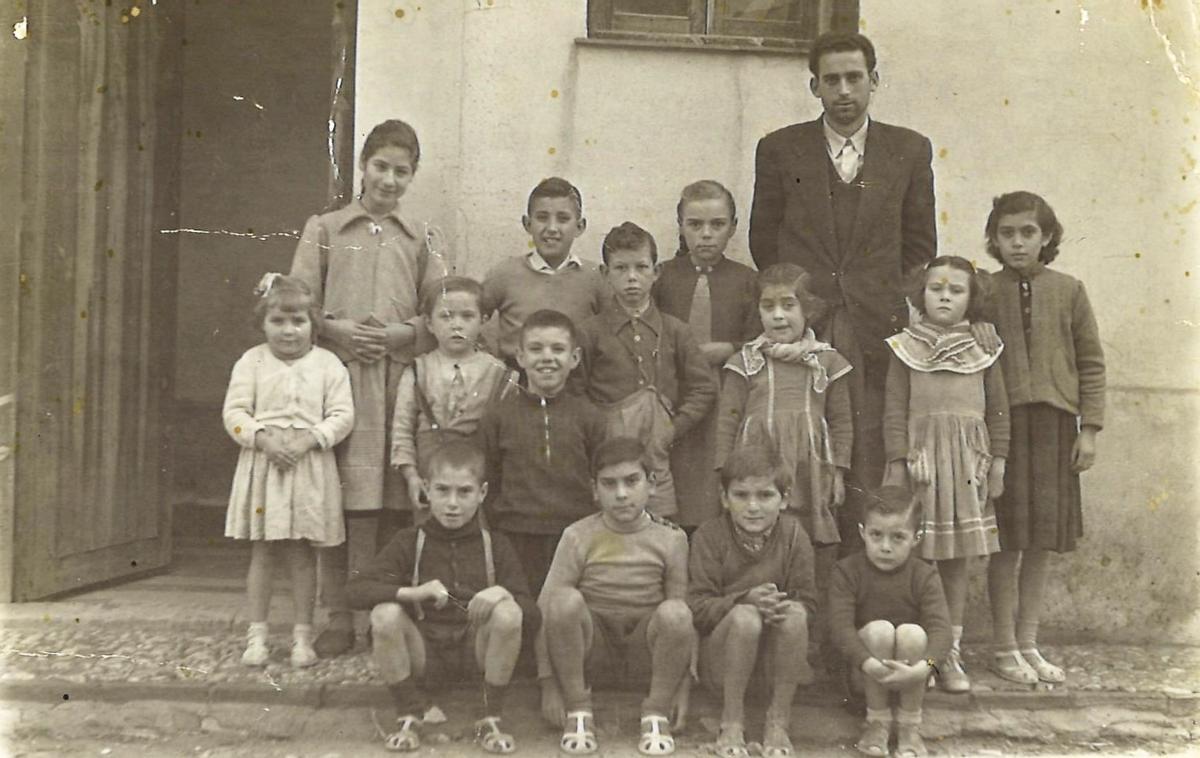
[(846, 383), (838, 379), (850, 363), (811, 330), (797, 347), (804, 357), (785, 362), (768, 357), (758, 337), (725, 363), (732, 372), (721, 389), (716, 465), (734, 446), (773, 445), (793, 471), (790, 507), (818, 545), (840, 542), (833, 515), (836, 468), (850, 467), (853, 426)]

